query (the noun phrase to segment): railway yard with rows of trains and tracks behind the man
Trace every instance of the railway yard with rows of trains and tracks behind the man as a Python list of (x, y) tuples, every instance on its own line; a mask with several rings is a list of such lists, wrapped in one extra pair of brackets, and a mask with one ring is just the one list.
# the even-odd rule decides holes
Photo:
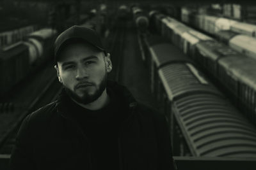
[(24, 118), (61, 92), (53, 44), (72, 25), (102, 37), (109, 80), (164, 115), (177, 169), (255, 169), (256, 5), (30, 4), (47, 19), (16, 18), (20, 26), (0, 29), (1, 170), (10, 169)]

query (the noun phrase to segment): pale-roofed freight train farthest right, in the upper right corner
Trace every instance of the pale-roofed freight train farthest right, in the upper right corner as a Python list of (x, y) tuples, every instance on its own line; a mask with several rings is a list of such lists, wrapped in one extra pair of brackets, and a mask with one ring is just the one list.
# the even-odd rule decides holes
[(207, 32), (231, 48), (256, 59), (256, 25), (228, 18), (201, 15), (188, 8), (181, 9), (182, 22)]

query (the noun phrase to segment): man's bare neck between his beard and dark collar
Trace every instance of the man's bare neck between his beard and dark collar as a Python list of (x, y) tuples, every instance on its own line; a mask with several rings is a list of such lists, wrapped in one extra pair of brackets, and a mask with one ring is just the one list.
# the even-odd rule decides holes
[(72, 101), (74, 101), (79, 106), (82, 106), (83, 108), (86, 108), (88, 110), (100, 110), (101, 108), (104, 108), (106, 105), (108, 105), (110, 99), (109, 99), (109, 96), (105, 89), (102, 92), (101, 96), (98, 99), (96, 99), (95, 101), (93, 101), (92, 103), (88, 103), (88, 104), (78, 103), (74, 99), (72, 99)]

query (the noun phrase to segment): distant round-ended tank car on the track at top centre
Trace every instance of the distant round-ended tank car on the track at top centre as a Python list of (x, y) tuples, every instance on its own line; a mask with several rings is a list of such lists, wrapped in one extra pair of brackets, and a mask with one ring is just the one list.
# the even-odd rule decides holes
[(148, 16), (145, 11), (141, 10), (141, 8), (138, 8), (138, 6), (132, 7), (132, 14), (134, 18), (134, 22), (138, 29), (140, 29), (141, 32), (147, 31), (148, 28)]

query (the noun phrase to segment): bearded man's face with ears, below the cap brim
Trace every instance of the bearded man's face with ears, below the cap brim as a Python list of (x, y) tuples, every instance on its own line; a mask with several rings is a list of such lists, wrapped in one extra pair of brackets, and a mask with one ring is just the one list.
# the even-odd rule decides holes
[(55, 69), (67, 94), (88, 104), (102, 95), (111, 67), (109, 54), (105, 56), (91, 45), (74, 43), (61, 51)]

